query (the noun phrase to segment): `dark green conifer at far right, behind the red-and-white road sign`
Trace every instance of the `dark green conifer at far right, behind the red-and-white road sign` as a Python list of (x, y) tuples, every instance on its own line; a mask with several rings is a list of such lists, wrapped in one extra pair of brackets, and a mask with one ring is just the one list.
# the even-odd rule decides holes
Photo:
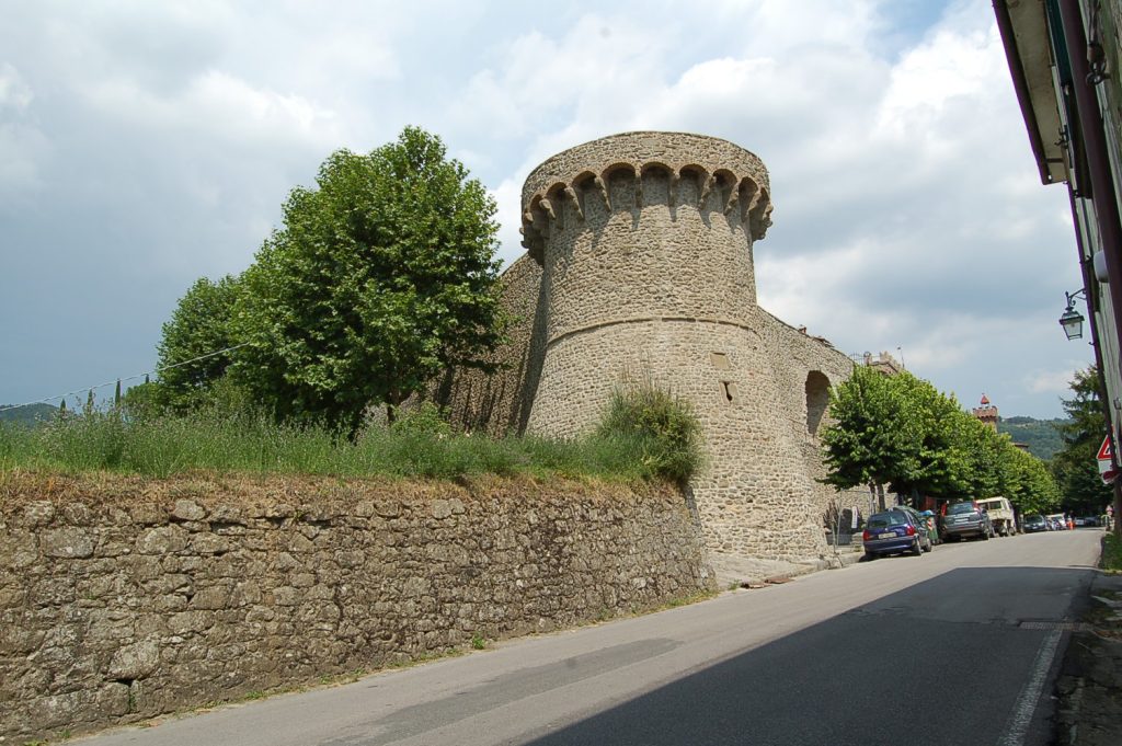
[(1097, 368), (1076, 371), (1070, 388), (1072, 398), (1063, 399), (1068, 422), (1057, 425), (1064, 448), (1052, 457), (1052, 471), (1064, 495), (1065, 509), (1098, 515), (1113, 500), (1113, 491), (1100, 479), (1095, 459), (1106, 435)]

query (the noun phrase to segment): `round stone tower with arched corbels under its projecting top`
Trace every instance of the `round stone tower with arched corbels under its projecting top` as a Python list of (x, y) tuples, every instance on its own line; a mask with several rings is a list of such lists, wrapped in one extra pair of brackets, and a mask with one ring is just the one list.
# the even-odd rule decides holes
[(542, 267), (527, 431), (574, 435), (615, 387), (669, 388), (701, 420), (708, 462), (691, 488), (710, 549), (820, 550), (816, 487), (756, 306), (752, 245), (772, 210), (760, 158), (699, 135), (616, 135), (535, 168), (522, 210)]

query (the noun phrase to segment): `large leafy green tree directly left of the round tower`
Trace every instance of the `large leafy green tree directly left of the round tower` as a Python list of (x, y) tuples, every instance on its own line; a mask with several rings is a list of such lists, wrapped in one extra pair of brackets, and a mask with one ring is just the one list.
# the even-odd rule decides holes
[(498, 224), (440, 138), (406, 128), (367, 155), (332, 154), (295, 188), (245, 276), (236, 375), (289, 420), (355, 432), (447, 366), (489, 368), (502, 338)]

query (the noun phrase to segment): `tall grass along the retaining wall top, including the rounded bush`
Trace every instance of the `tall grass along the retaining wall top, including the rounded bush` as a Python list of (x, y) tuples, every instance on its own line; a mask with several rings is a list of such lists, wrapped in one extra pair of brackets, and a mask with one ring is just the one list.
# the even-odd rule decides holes
[(0, 424), (0, 470), (160, 478), (194, 470), (433, 478), (523, 473), (680, 481), (698, 460), (696, 429), (680, 403), (649, 393), (638, 398), (618, 394), (604, 424), (577, 440), (457, 433), (432, 406), (388, 427), (373, 425), (356, 439), (325, 426), (278, 424), (252, 412), (129, 416), (86, 408), (36, 429)]

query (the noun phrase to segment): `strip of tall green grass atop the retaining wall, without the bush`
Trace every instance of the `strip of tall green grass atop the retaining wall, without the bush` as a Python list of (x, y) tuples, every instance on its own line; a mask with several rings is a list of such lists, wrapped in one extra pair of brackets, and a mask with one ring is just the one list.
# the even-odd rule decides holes
[(193, 470), (330, 476), (454, 478), (562, 475), (656, 479), (618, 440), (491, 439), (408, 427), (370, 427), (356, 440), (321, 426), (260, 415), (200, 413), (129, 420), (116, 412), (72, 415), (29, 429), (0, 424), (0, 470), (113, 471), (168, 477)]

